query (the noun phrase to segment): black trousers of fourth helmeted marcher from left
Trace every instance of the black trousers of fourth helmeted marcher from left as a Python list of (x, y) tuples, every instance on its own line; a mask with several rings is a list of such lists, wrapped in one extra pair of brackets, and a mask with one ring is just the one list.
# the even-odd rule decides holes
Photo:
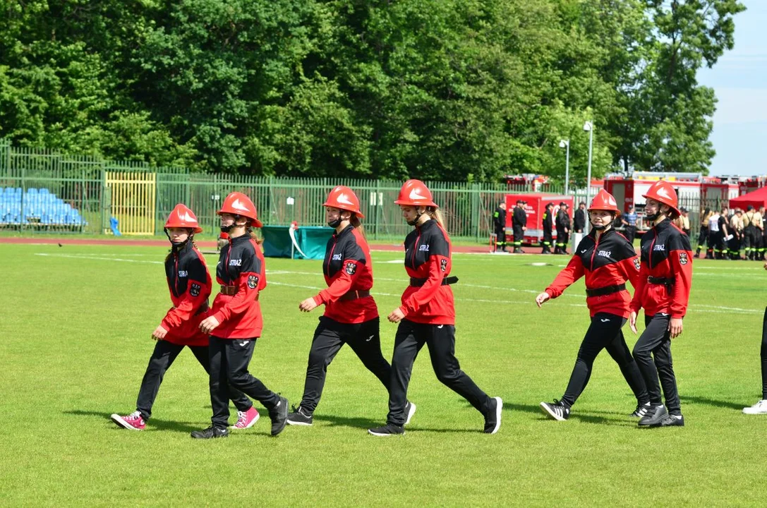
[(387, 424), (402, 426), (405, 423), (407, 385), (410, 384), (413, 362), (424, 344), (429, 348), (436, 378), (469, 401), (477, 411), (487, 414), (490, 397), (461, 370), (456, 358), (456, 327), (423, 325), (403, 319), (394, 338)]

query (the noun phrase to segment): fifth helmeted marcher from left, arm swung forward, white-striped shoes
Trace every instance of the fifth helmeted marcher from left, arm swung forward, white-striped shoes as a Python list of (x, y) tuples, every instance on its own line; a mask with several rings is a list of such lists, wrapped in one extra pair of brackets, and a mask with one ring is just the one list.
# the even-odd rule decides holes
[(610, 193), (600, 190), (591, 201), (588, 213), (591, 232), (578, 243), (568, 266), (559, 272), (545, 292), (535, 297), (535, 303), (540, 307), (585, 276), (586, 305), (591, 314), (591, 325), (578, 349), (578, 359), (565, 394), (561, 401), (542, 402), (541, 409), (555, 420), (567, 420), (571, 407), (591, 378), (594, 360), (603, 349), (607, 349), (637, 397), (637, 409), (631, 416), (643, 417), (650, 406), (650, 398), (621, 331), (626, 324), (631, 301), (626, 281), (637, 286), (639, 258), (634, 246), (612, 226), (620, 211)]

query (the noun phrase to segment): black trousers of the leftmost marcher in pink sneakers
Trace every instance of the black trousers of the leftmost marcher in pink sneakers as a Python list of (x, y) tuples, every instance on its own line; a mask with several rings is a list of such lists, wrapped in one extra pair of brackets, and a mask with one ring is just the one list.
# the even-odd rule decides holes
[[(136, 410), (141, 413), (141, 417), (145, 421), (152, 416), (152, 406), (157, 392), (160, 391), (160, 384), (163, 382), (166, 371), (173, 365), (173, 361), (176, 361), (176, 357), (185, 347), (192, 350), (192, 354), (199, 361), (199, 365), (202, 365), (202, 368), (210, 374), (208, 346), (182, 346), (169, 341), (157, 341), (149, 359), (149, 365), (146, 365), (146, 372), (144, 372), (144, 377), (141, 380), (139, 397), (136, 401)], [(237, 411), (248, 411), (253, 405), (250, 399), (245, 397), (245, 394), (234, 388), (228, 392), (227, 405), (229, 399), (232, 399)]]

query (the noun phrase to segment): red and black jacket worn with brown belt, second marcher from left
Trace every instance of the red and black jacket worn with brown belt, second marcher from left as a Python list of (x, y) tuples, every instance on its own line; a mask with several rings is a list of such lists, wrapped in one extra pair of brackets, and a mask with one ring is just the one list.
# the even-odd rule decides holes
[(266, 287), (264, 255), (249, 235), (229, 239), (221, 249), (216, 266), (216, 281), (235, 286), (235, 295), (219, 293), (213, 301), (212, 315), (220, 325), (212, 335), (218, 338), (261, 336), (263, 319), (258, 293)]

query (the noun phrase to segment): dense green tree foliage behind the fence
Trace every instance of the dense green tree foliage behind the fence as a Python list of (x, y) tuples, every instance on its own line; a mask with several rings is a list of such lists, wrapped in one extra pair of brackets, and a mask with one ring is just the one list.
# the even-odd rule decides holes
[(737, 0), (0, 0), (0, 137), (194, 170), (705, 171)]

